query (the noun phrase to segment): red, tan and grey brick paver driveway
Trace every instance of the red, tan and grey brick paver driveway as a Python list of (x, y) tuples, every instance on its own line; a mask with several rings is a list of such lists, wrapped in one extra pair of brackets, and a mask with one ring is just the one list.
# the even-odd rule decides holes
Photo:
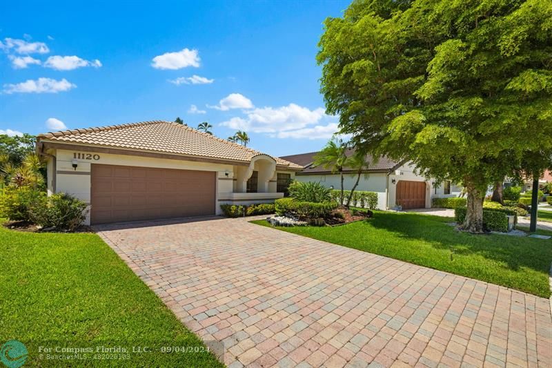
[(552, 365), (544, 298), (244, 219), (97, 230), (230, 367)]

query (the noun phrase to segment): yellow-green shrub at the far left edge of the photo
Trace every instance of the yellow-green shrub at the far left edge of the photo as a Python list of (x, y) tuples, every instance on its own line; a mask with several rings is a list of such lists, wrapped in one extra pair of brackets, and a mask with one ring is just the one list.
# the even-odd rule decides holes
[(7, 217), (13, 221), (32, 222), (29, 210), (45, 198), (46, 193), (28, 186), (21, 188), (8, 186), (0, 197), (0, 217)]

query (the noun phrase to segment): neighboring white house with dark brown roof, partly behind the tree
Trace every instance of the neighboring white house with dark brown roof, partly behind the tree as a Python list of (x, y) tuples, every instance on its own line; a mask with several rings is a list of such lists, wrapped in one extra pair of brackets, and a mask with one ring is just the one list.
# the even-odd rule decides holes
[[(349, 150), (347, 155), (352, 152)], [(316, 154), (310, 152), (280, 158), (303, 166), (303, 171), (295, 174), (299, 182), (319, 182), (328, 188), (341, 188), (339, 173), (313, 164)], [(434, 197), (457, 197), (460, 194), (461, 189), (449, 181), (436, 186), (435, 180), (417, 175), (408, 162), (401, 164), (388, 157), (380, 157), (374, 162), (370, 155), (366, 161), (372, 164), (364, 169), (356, 190), (376, 192), (379, 209), (393, 209), (398, 205), (403, 209), (429, 208)], [(345, 168), (344, 189), (351, 190), (356, 180), (357, 173), (351, 168)]]

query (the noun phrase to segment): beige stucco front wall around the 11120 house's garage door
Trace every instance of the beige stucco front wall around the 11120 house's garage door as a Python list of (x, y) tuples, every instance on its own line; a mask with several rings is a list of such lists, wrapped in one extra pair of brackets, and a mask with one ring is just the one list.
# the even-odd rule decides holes
[[(108, 164), (121, 166), (142, 166), (156, 168), (175, 168), (180, 170), (215, 171), (217, 172), (217, 190), (215, 197), (215, 213), (221, 214), (220, 204), (222, 200), (231, 197), (235, 191), (235, 170), (237, 175), (243, 173), (247, 166), (234, 166), (232, 164), (216, 164), (210, 162), (194, 162), (179, 159), (162, 159), (155, 157), (141, 157), (135, 155), (113, 155), (109, 153), (87, 152), (86, 148), (80, 151), (55, 150), (49, 152), (56, 157), (56, 163), (50, 159), (47, 164), (48, 171), (48, 193), (55, 188), (56, 193), (69, 193), (88, 203), (90, 206), (90, 168), (92, 164)], [(81, 153), (77, 158), (77, 169), (72, 167), (72, 160), (75, 153)], [(88, 155), (90, 154), (90, 155)], [(90, 159), (87, 159), (90, 158)], [(55, 167), (57, 166), (57, 167)], [(55, 171), (55, 175), (54, 175)], [(284, 172), (284, 171), (279, 171)], [(291, 172), (290, 172), (291, 173)], [(291, 173), (294, 175), (294, 173)], [(243, 175), (243, 174), (242, 174)], [(273, 175), (274, 180), (276, 174)], [(55, 183), (52, 178), (55, 177)], [(269, 192), (276, 191), (275, 184), (268, 183)], [(276, 196), (277, 197), (277, 196)], [(226, 201), (224, 201), (226, 202)], [(266, 202), (266, 201), (260, 201)], [(251, 202), (253, 203), (253, 202)], [(239, 204), (248, 204), (239, 202)], [(90, 217), (86, 219), (90, 224)]]

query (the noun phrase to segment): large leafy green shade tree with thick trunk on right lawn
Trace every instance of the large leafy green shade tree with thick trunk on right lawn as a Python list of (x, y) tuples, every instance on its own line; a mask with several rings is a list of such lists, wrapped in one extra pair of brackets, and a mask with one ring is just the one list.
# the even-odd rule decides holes
[(552, 149), (551, 0), (364, 0), (329, 18), (322, 93), (342, 133), (462, 183), (482, 231), (489, 185)]

